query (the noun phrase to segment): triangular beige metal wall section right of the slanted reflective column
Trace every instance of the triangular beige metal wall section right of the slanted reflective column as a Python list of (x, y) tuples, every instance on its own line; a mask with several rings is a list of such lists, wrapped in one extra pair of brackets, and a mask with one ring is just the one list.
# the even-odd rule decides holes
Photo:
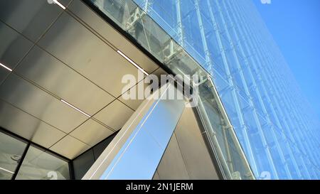
[(159, 179), (218, 179), (191, 108), (183, 111), (157, 168)]

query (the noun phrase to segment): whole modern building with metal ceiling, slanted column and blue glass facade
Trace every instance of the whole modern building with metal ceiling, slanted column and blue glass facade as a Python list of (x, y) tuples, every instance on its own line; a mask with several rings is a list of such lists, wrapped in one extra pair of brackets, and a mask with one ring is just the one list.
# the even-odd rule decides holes
[(0, 9), (0, 179), (320, 178), (319, 122), (252, 0)]

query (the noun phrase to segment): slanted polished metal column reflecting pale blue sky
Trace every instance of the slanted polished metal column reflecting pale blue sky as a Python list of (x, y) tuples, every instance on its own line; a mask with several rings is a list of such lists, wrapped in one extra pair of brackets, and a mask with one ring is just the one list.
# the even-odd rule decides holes
[(184, 106), (183, 99), (146, 99), (83, 179), (151, 179)]

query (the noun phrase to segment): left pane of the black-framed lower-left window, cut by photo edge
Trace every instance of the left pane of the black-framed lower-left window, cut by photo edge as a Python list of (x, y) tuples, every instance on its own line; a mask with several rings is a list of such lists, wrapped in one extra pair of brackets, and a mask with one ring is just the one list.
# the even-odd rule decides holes
[(0, 132), (0, 180), (10, 180), (26, 149), (26, 143)]

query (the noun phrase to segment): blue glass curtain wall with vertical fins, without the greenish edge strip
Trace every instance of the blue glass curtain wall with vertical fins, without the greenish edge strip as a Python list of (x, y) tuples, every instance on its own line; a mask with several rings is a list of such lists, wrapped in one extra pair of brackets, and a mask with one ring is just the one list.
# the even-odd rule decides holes
[(319, 126), (252, 1), (134, 1), (213, 75), (257, 178), (319, 178)]

